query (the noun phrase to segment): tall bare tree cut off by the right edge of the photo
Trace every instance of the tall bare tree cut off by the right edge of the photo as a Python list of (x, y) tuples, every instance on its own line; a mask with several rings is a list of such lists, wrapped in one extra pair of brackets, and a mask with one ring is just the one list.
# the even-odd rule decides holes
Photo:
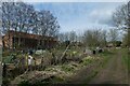
[(127, 32), (127, 44), (130, 46), (130, 2), (116, 9), (113, 14), (113, 20), (117, 28)]

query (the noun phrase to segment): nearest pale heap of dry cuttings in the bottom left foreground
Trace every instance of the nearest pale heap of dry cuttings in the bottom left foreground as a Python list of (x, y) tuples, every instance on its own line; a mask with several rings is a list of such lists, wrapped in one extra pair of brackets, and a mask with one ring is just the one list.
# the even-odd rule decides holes
[(17, 77), (14, 78), (14, 81), (11, 82), (11, 84), (20, 84), (23, 81), (28, 81), (29, 83), (35, 83), (37, 81), (43, 81), (47, 78), (50, 78), (52, 76), (55, 76), (56, 72), (47, 72), (47, 71), (30, 71), (27, 73), (24, 73)]

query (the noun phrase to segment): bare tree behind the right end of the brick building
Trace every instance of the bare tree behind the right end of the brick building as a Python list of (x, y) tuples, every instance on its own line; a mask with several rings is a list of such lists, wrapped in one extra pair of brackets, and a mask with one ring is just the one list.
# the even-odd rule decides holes
[(50, 11), (40, 11), (37, 15), (38, 22), (36, 25), (39, 27), (38, 33), (55, 37), (60, 28), (56, 17), (54, 17)]

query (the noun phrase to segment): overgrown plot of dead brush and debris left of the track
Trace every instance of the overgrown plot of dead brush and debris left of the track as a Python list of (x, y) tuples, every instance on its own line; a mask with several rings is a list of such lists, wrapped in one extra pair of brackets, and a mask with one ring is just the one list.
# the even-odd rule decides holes
[(83, 47), (76, 46), (67, 47), (65, 51), (56, 48), (39, 51), (32, 55), (36, 63), (31, 66), (31, 70), (28, 70), (27, 55), (18, 55), (21, 61), (18, 60), (20, 62), (12, 70), (6, 71), (10, 74), (9, 78), (13, 76), (10, 84), (65, 83), (77, 71), (92, 62), (102, 60), (102, 57), (84, 53), (83, 49)]

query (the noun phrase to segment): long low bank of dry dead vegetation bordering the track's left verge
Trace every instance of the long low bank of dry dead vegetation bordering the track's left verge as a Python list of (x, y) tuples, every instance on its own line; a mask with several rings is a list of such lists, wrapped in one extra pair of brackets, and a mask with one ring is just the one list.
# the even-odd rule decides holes
[[(42, 71), (30, 71), (15, 77), (14, 81), (11, 82), (11, 84), (15, 84), (15, 83), (20, 84), (23, 81), (26, 81), (30, 84), (36, 84), (37, 82), (40, 82), (42, 84), (52, 83), (52, 82), (65, 83), (68, 77), (75, 75), (77, 71), (88, 66), (89, 63), (93, 62), (94, 60), (98, 61), (100, 59), (89, 56), (89, 57), (84, 57), (82, 59), (82, 62), (80, 63), (70, 61), (64, 64), (50, 66)], [(61, 81), (54, 81), (55, 77)]]

